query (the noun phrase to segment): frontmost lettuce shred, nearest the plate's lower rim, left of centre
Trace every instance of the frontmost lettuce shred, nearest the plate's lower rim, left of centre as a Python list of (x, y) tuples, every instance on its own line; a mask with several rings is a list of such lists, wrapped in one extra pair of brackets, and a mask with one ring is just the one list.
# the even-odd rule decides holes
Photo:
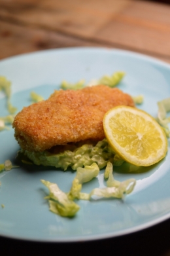
[(70, 200), (67, 194), (61, 191), (56, 183), (50, 183), (50, 181), (41, 182), (48, 187), (50, 194), (46, 198), (49, 200), (50, 211), (61, 215), (63, 217), (73, 217), (80, 209), (80, 206)]

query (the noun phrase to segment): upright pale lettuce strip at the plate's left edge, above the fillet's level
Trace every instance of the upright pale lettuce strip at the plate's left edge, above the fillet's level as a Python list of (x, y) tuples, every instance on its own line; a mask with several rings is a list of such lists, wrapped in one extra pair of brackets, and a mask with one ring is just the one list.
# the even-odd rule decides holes
[(5, 96), (7, 97), (7, 109), (9, 113), (12, 115), (14, 114), (17, 109), (16, 107), (13, 107), (10, 103), (10, 97), (11, 97), (11, 82), (6, 79), (6, 77), (0, 77), (0, 91), (3, 91), (5, 93)]

